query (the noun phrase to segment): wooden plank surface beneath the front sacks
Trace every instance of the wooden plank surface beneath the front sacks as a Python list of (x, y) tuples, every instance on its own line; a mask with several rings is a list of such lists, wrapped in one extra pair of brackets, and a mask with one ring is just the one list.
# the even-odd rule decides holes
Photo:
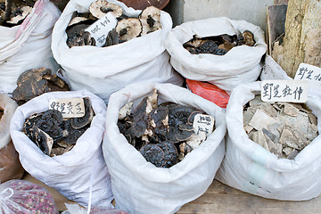
[[(46, 186), (29, 174), (23, 177), (45, 188), (53, 195), (58, 210), (65, 210), (64, 203), (75, 203), (62, 196), (61, 193)], [(223, 185), (214, 180), (206, 193), (201, 197), (185, 204), (177, 214), (191, 213), (320, 213), (321, 196), (306, 202), (284, 202), (261, 198), (250, 193), (243, 193), (235, 188)]]

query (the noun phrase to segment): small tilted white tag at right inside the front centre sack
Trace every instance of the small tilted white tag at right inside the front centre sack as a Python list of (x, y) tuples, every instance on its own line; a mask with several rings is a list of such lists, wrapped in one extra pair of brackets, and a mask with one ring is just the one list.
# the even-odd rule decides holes
[(196, 114), (193, 119), (193, 130), (196, 135), (200, 132), (205, 132), (209, 135), (213, 132), (215, 119), (207, 114)]

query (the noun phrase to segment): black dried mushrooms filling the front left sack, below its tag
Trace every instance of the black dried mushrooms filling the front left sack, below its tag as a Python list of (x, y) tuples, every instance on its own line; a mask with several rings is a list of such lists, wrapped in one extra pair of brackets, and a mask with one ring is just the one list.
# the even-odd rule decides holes
[[(84, 97), (85, 115), (80, 120), (62, 118), (62, 113), (48, 110), (35, 113), (25, 120), (22, 132), (33, 141), (41, 151), (50, 156), (62, 155), (76, 144), (94, 118), (88, 97)], [(72, 124), (76, 122), (76, 127)], [(74, 124), (75, 125), (75, 124)]]

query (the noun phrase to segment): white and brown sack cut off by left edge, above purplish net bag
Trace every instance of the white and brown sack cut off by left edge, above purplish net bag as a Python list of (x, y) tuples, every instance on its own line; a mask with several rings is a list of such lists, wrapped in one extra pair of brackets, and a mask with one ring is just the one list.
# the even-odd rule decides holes
[(10, 137), (10, 121), (17, 107), (8, 95), (0, 94), (0, 183), (20, 179), (24, 173)]

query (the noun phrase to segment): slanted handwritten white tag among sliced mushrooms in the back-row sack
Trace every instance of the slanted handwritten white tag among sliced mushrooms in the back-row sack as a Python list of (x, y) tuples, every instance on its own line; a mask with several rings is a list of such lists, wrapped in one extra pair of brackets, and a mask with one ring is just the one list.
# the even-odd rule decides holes
[(111, 12), (107, 12), (105, 16), (90, 25), (86, 31), (90, 33), (91, 37), (95, 38), (96, 46), (103, 46), (109, 31), (114, 29), (116, 25), (117, 19), (111, 15)]

